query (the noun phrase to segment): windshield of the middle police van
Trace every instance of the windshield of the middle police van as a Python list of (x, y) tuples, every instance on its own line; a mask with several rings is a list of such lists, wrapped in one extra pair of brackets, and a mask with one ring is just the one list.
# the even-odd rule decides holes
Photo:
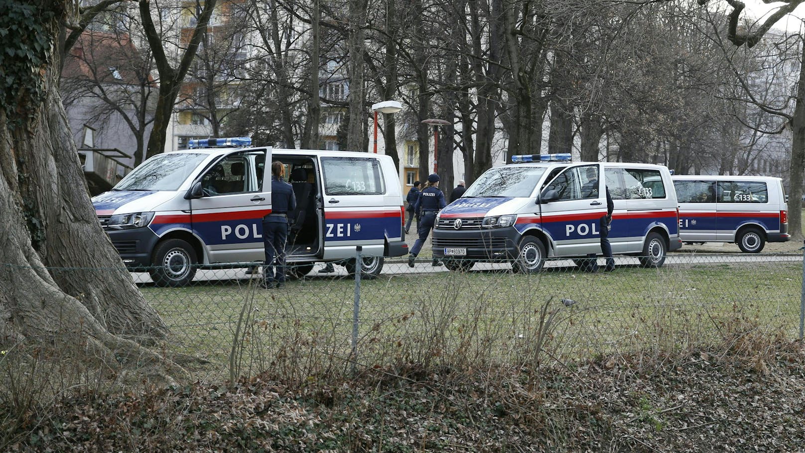
[(489, 168), (469, 189), (464, 197), (530, 197), (543, 176), (545, 167)]

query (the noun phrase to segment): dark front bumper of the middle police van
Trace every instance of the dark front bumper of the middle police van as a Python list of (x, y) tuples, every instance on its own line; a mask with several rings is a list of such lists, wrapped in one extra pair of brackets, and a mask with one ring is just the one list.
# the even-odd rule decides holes
[(522, 235), (513, 226), (493, 230), (433, 231), (432, 250), (435, 258), (444, 258), (445, 248), (466, 249), (466, 255), (451, 255), (473, 260), (512, 260), (518, 256)]

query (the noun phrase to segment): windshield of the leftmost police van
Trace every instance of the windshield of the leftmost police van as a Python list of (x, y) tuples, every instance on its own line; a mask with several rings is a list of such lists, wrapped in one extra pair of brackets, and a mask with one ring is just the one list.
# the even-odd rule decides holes
[(176, 190), (206, 154), (169, 153), (155, 156), (134, 168), (113, 190)]

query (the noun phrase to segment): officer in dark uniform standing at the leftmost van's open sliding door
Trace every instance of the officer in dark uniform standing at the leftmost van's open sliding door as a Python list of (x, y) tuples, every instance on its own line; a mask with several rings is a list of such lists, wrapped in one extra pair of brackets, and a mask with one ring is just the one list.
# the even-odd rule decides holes
[[(288, 238), (288, 212), (296, 209), (294, 188), (283, 180), (285, 167), (279, 160), (271, 163), (271, 214), (262, 218), (262, 242), (266, 249), (263, 275), (265, 288), (285, 285), (285, 243)], [(274, 259), (277, 259), (276, 274)]]

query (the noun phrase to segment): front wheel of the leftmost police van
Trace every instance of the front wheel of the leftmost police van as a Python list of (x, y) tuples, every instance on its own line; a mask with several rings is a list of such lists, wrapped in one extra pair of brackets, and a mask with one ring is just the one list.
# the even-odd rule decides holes
[(190, 283), (196, 276), (196, 251), (182, 239), (167, 239), (154, 249), (148, 273), (157, 286), (179, 287)]

